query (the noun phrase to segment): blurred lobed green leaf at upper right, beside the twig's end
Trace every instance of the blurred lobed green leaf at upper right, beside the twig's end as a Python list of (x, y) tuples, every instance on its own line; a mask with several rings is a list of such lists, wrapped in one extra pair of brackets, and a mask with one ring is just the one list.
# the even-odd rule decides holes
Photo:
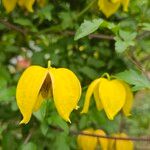
[(119, 35), (115, 37), (115, 50), (118, 53), (123, 53), (129, 46), (134, 46), (134, 39), (136, 37), (136, 33), (119, 31)]

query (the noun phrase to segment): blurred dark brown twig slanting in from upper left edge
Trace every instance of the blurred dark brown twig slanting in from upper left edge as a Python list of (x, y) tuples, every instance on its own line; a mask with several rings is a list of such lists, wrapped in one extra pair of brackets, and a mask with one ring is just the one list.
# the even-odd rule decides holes
[(1, 18), (0, 18), (0, 23), (3, 24), (4, 26), (6, 26), (6, 27), (7, 27), (8, 29), (10, 29), (10, 30), (11, 30), (11, 29), (12, 29), (12, 30), (15, 30), (15, 31), (17, 31), (17, 32), (22, 33), (23, 35), (26, 35), (26, 34), (27, 34), (27, 31), (26, 31), (25, 29), (22, 29), (22, 28), (20, 28), (20, 27), (14, 25), (14, 24), (12, 24), (12, 23), (10, 23), (10, 22), (4, 20), (4, 19), (1, 19)]

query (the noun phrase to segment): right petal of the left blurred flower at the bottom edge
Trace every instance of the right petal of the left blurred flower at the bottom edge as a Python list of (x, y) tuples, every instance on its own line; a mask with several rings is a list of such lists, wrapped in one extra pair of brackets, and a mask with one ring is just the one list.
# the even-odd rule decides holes
[[(100, 130), (100, 129), (96, 130), (94, 132), (94, 134), (106, 136), (106, 133), (103, 130)], [(107, 150), (108, 149), (108, 139), (106, 139), (106, 138), (98, 138), (98, 140), (99, 140), (99, 143), (101, 145), (101, 149), (102, 150)]]

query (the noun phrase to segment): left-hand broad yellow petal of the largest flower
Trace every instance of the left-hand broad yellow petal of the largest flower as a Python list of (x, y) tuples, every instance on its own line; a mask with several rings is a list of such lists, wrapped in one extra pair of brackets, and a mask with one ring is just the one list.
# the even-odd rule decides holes
[(23, 115), (20, 123), (28, 123), (33, 109), (37, 108), (36, 101), (46, 76), (47, 69), (31, 66), (20, 77), (16, 90), (17, 105)]

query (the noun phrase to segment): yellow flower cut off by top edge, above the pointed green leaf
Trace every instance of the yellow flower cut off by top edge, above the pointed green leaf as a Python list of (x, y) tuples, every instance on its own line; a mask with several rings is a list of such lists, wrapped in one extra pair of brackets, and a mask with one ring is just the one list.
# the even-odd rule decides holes
[(123, 11), (128, 11), (130, 0), (98, 0), (99, 9), (108, 18), (122, 5)]

